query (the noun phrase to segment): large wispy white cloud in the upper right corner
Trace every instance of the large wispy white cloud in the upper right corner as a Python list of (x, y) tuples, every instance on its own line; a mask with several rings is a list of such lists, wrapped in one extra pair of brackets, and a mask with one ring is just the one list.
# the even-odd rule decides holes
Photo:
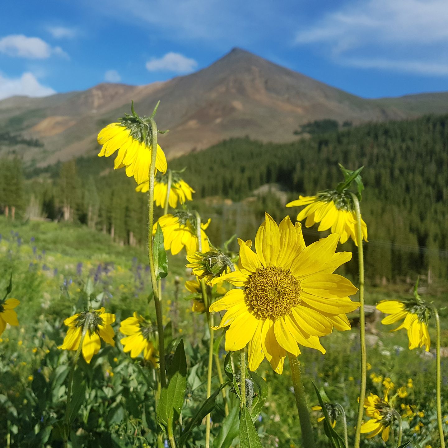
[(341, 65), (446, 75), (445, 0), (363, 0), (297, 33), (296, 43), (320, 44)]

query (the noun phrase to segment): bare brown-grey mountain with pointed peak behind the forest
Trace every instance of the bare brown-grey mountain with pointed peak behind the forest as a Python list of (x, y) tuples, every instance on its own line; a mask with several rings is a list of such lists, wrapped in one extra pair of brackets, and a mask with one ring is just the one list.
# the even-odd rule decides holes
[(363, 99), (235, 48), (209, 67), (146, 86), (99, 84), (82, 92), (0, 101), (0, 132), (20, 133), (43, 146), (1, 145), (1, 154), (45, 166), (98, 151), (99, 129), (129, 112), (149, 114), (160, 99), (161, 144), (173, 158), (224, 139), (291, 142), (299, 125), (330, 118), (354, 125), (447, 113), (448, 93)]

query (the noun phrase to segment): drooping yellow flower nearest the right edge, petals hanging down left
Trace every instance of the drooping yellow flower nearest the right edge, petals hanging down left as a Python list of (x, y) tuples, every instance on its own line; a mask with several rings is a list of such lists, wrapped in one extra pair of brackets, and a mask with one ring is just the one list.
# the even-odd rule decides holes
[(431, 338), (429, 337), (428, 326), (420, 313), (409, 312), (405, 303), (399, 302), (398, 300), (383, 300), (379, 302), (376, 308), (382, 313), (389, 314), (381, 321), (384, 325), (395, 323), (403, 318), (405, 319), (399, 327), (391, 330), (391, 332), (405, 328), (408, 331), (410, 350), (425, 345), (425, 350), (429, 352)]

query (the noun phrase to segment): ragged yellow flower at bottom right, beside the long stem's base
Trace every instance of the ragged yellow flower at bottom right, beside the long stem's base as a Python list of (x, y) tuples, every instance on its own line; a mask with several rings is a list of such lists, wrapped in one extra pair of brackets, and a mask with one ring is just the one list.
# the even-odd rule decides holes
[(370, 393), (364, 399), (364, 407), (366, 408), (366, 416), (370, 417), (367, 422), (362, 422), (361, 433), (370, 432), (367, 439), (371, 439), (375, 435), (381, 433), (381, 438), (387, 442), (389, 438), (389, 428), (393, 423), (393, 408), (389, 405), (388, 391), (384, 398), (379, 398), (378, 395)]

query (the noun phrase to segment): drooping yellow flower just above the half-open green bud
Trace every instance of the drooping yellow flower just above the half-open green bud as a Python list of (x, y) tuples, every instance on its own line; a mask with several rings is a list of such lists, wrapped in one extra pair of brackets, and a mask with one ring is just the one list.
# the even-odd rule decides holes
[[(196, 229), (190, 222), (190, 219), (192, 219), (194, 215), (188, 214), (191, 215), (189, 216), (189, 219), (185, 219), (185, 216), (183, 215), (184, 212), (179, 211), (175, 215), (163, 215), (157, 221), (164, 234), (165, 250), (171, 249), (173, 255), (178, 254), (184, 246), (187, 255), (193, 255), (199, 249)], [(206, 223), (201, 224), (202, 250), (205, 252), (210, 249), (210, 246), (204, 230), (207, 229), (210, 221), (211, 220), (209, 219)], [(157, 230), (157, 222), (152, 228), (153, 235), (155, 235), (155, 231)]]

